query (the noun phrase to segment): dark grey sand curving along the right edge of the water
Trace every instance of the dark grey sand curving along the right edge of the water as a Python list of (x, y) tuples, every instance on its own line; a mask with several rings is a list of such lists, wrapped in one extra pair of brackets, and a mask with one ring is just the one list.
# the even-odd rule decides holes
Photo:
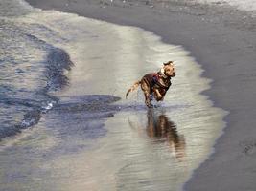
[(159, 1), (28, 2), (41, 9), (141, 27), (162, 36), (166, 43), (184, 46), (202, 65), (203, 75), (214, 80), (203, 94), (230, 112), (215, 153), (195, 171), (185, 190), (256, 189), (256, 19), (250, 12), (221, 4), (207, 7)]

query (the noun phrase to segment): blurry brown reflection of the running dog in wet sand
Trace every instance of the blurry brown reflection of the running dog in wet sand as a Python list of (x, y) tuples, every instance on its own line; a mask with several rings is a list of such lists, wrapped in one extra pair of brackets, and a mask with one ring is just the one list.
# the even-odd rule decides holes
[[(147, 113), (146, 128), (139, 128), (129, 121), (129, 126), (132, 129), (139, 130), (141, 134), (146, 134), (152, 138), (155, 143), (167, 143), (171, 152), (178, 160), (183, 160), (185, 157), (186, 142), (183, 135), (178, 134), (175, 122), (170, 120), (165, 114), (157, 114), (153, 109), (149, 109)], [(145, 131), (141, 131), (145, 129)]]

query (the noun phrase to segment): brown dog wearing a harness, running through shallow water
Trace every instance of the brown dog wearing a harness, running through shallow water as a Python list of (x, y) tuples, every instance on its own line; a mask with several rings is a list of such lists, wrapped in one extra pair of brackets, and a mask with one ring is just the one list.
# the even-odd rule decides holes
[(136, 88), (141, 86), (141, 89), (145, 96), (145, 104), (148, 107), (152, 107), (151, 96), (153, 96), (156, 101), (162, 101), (168, 89), (171, 86), (171, 78), (175, 76), (175, 65), (173, 61), (164, 63), (163, 68), (158, 73), (146, 74), (141, 80), (136, 81), (129, 89), (126, 95)]

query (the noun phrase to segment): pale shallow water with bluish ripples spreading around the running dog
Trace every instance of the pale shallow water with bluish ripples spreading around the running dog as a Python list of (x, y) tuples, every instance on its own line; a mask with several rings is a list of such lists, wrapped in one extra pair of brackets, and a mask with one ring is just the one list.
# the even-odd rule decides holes
[[(0, 120), (13, 123), (1, 127), (1, 190), (182, 189), (226, 114), (199, 95), (210, 80), (190, 53), (142, 29), (19, 6), (26, 13), (1, 17), (4, 35), (21, 33), (18, 44), (4, 44), (15, 67), (1, 54)], [(148, 110), (140, 90), (124, 98), (167, 60), (177, 75), (163, 103)]]

